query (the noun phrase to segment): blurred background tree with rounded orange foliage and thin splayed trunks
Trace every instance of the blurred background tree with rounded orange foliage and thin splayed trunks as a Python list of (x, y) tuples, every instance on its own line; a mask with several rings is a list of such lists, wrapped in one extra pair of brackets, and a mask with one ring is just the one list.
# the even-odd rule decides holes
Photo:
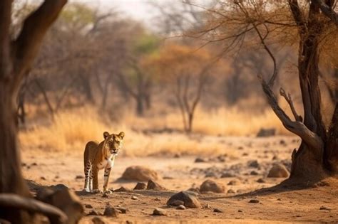
[(211, 62), (206, 49), (169, 44), (144, 63), (155, 77), (173, 87), (173, 96), (180, 108), (185, 132), (192, 132), (196, 107), (210, 78)]

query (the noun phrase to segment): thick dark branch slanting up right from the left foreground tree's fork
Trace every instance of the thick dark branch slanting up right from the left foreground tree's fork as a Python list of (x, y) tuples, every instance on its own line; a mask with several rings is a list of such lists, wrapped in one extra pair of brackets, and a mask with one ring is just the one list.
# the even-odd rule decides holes
[(42, 38), (46, 31), (56, 20), (67, 0), (45, 0), (31, 15), (29, 15), (22, 27), (18, 38), (12, 43), (14, 55), (14, 88), (19, 86), (26, 70), (38, 53)]

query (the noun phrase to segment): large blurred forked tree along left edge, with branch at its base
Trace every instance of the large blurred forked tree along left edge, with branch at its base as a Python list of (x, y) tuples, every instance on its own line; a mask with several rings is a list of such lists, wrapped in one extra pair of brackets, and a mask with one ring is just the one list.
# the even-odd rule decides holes
[[(11, 0), (0, 1), (0, 193), (31, 197), (20, 168), (16, 136), (16, 97), (21, 80), (38, 53), (43, 36), (56, 20), (66, 0), (43, 1), (41, 6), (24, 20), (21, 31), (14, 40), (11, 40), (10, 33), (12, 4)], [(59, 215), (58, 218), (64, 221), (64, 214), (52, 206), (41, 206), (42, 203), (36, 201), (24, 201), (26, 204), (21, 203), (18, 206), (20, 198), (12, 196), (7, 203), (18, 206), (14, 209), (4, 204), (6, 196), (0, 194), (0, 197), (0, 218), (10, 220), (11, 223), (34, 223), (32, 214), (37, 210), (48, 216)], [(27, 213), (21, 208), (33, 213)]]

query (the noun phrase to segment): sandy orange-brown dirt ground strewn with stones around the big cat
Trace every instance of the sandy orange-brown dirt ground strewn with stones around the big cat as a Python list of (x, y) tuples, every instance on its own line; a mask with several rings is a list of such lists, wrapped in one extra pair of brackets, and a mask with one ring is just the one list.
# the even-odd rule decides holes
[[(277, 186), (283, 178), (267, 178), (274, 163), (290, 166), (291, 151), (299, 140), (294, 137), (220, 137), (225, 144), (222, 155), (210, 154), (205, 162), (196, 163), (196, 156), (159, 154), (148, 157), (126, 157), (119, 154), (112, 169), (110, 187), (133, 189), (137, 181), (119, 178), (128, 166), (148, 166), (158, 172), (157, 181), (166, 191), (113, 192), (108, 198), (102, 194), (83, 194), (83, 157), (80, 151), (68, 153), (41, 149), (23, 150), (22, 166), (26, 179), (43, 186), (62, 183), (81, 198), (87, 214), (81, 223), (92, 223), (95, 210), (106, 223), (338, 223), (338, 181), (327, 179), (310, 188), (295, 189)], [(212, 152), (210, 152), (212, 153)], [(220, 157), (217, 157), (220, 156)], [(275, 158), (274, 158), (275, 157)], [(222, 158), (222, 159), (220, 159)], [(224, 173), (232, 177), (220, 178)], [(103, 184), (103, 171), (99, 174)], [(262, 178), (258, 183), (257, 180)], [(177, 210), (166, 206), (175, 192), (199, 187), (211, 179), (223, 183), (225, 193), (200, 194), (203, 208)], [(229, 191), (230, 190), (230, 191)], [(228, 192), (229, 191), (229, 192)], [(131, 197), (136, 196), (133, 200)], [(249, 203), (257, 199), (259, 203)], [(101, 216), (106, 204), (128, 208), (118, 218)], [(88, 206), (90, 207), (90, 206)], [(154, 208), (165, 209), (167, 215), (152, 215)], [(221, 213), (214, 212), (214, 208)]]

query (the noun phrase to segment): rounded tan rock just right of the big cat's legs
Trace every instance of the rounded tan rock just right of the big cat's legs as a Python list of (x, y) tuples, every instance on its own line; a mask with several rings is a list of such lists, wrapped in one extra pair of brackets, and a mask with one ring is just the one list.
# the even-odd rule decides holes
[(121, 178), (130, 181), (158, 180), (158, 173), (143, 166), (130, 166), (124, 171)]

